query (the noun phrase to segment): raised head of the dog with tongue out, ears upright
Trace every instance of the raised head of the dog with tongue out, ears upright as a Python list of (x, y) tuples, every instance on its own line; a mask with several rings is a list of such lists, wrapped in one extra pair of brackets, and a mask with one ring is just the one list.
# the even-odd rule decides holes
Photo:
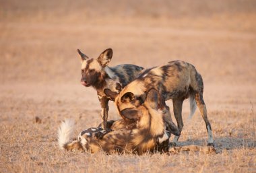
[(106, 75), (104, 72), (104, 67), (106, 67), (111, 61), (113, 50), (111, 48), (104, 50), (98, 59), (90, 59), (79, 49), (77, 49), (77, 52), (79, 53), (82, 60), (82, 85), (86, 87), (92, 85), (93, 87), (97, 88), (104, 80), (104, 75)]

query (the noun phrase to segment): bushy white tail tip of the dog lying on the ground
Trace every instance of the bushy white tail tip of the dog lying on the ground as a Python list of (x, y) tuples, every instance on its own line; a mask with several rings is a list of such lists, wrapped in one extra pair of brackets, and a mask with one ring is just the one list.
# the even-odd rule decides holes
[(61, 126), (59, 127), (58, 131), (58, 142), (59, 147), (61, 149), (66, 149), (66, 145), (69, 143), (69, 140), (71, 139), (74, 126), (74, 121), (70, 119), (65, 119), (61, 123)]

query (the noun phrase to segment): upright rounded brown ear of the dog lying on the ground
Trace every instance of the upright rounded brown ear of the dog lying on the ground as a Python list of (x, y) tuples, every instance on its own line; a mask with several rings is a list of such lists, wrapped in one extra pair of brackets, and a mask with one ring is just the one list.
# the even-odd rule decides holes
[(164, 100), (162, 96), (160, 96), (158, 90), (154, 88), (148, 91), (145, 103), (148, 104), (150, 108), (154, 108), (156, 110), (164, 107)]

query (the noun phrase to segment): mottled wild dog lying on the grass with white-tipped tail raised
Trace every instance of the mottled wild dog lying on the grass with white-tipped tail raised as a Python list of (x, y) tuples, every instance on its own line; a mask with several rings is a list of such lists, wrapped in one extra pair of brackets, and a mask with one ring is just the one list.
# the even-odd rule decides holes
[[(80, 149), (92, 153), (103, 150), (106, 153), (128, 152), (141, 155), (146, 151), (155, 151), (158, 146), (163, 151), (168, 151), (170, 134), (166, 131), (163, 109), (164, 100), (157, 90), (152, 89), (146, 94), (145, 102), (125, 116), (136, 121), (135, 128), (121, 128), (108, 133), (101, 128), (90, 128), (70, 141), (73, 123), (66, 120), (59, 128), (59, 146), (61, 149)], [(99, 133), (102, 133), (100, 138), (96, 136)]]

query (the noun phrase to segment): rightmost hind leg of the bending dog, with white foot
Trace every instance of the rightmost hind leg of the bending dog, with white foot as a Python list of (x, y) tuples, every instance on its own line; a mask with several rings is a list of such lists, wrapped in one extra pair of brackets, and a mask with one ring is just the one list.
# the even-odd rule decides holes
[(212, 135), (212, 127), (211, 124), (207, 118), (207, 110), (205, 103), (203, 101), (203, 93), (202, 92), (196, 92), (195, 93), (195, 102), (197, 102), (197, 106), (201, 112), (201, 116), (203, 117), (203, 120), (206, 125), (207, 133), (208, 133), (208, 146), (214, 146), (214, 138)]

